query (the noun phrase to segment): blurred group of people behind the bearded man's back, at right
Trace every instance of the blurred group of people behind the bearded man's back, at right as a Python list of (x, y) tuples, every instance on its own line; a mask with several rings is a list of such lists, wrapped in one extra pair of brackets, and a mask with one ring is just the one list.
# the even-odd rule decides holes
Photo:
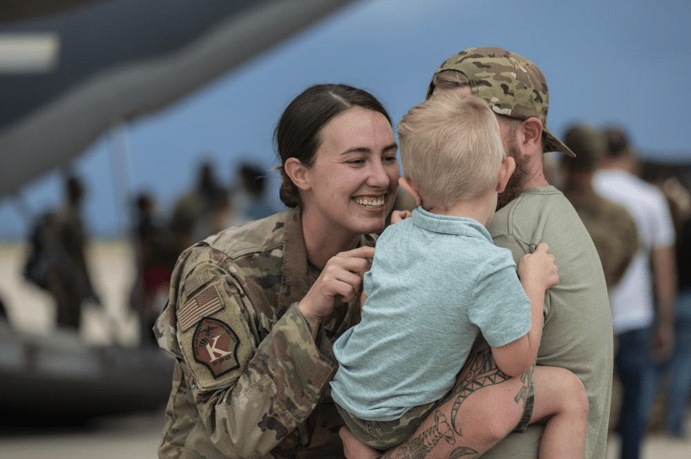
[(668, 387), (666, 431), (686, 435), (691, 334), (684, 285), (691, 252), (684, 227), (691, 195), (675, 178), (641, 179), (620, 126), (573, 125), (564, 138), (576, 157), (561, 159), (557, 181), (588, 227), (605, 271), (622, 387), (622, 458), (638, 458), (661, 387)]

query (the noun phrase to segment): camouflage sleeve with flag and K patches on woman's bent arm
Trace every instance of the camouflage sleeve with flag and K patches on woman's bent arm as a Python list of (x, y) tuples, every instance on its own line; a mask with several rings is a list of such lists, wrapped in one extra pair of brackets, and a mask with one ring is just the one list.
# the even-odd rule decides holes
[(203, 435), (227, 457), (261, 458), (307, 419), (335, 361), (296, 304), (272, 324), (217, 265), (196, 265), (179, 290), (176, 339)]

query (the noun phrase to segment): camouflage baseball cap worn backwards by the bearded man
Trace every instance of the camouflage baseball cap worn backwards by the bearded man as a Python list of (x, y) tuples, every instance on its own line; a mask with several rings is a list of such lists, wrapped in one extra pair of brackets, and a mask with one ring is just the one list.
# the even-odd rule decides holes
[[(471, 47), (449, 57), (434, 75), (443, 70), (464, 74), (472, 94), (485, 99), (495, 113), (518, 120), (538, 118), (543, 125), (545, 151), (575, 157), (571, 149), (547, 130), (547, 80), (533, 62), (500, 47)], [(433, 81), (429, 82), (428, 98), (434, 91)]]

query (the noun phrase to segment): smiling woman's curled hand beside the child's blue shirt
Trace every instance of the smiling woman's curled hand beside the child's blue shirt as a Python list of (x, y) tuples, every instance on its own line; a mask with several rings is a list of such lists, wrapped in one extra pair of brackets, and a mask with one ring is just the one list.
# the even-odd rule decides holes
[(322, 319), (331, 315), (337, 297), (349, 302), (359, 295), (362, 276), (369, 270), (373, 256), (374, 247), (364, 246), (341, 252), (327, 261), (312, 288), (298, 302), (298, 309), (310, 322), (313, 336)]

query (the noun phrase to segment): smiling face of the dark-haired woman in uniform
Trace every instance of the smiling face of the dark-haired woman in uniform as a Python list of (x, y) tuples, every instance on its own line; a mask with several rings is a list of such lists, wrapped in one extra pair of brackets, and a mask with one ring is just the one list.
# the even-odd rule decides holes
[(305, 211), (320, 215), (327, 231), (381, 232), (400, 176), (388, 120), (355, 106), (324, 125), (320, 140), (315, 162), (305, 172)]

